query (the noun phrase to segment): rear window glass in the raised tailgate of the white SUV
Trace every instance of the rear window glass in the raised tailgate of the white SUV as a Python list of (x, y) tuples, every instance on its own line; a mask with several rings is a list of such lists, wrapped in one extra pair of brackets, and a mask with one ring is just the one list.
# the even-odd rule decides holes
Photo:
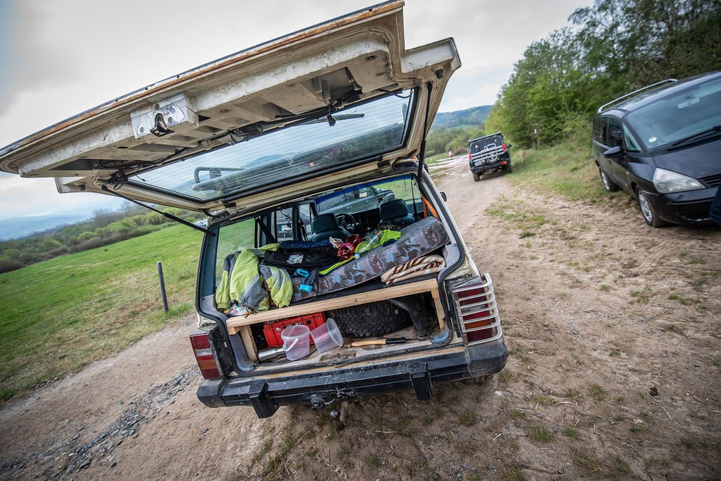
[(373, 99), (141, 172), (128, 181), (208, 201), (372, 158), (402, 147), (413, 97), (407, 91)]

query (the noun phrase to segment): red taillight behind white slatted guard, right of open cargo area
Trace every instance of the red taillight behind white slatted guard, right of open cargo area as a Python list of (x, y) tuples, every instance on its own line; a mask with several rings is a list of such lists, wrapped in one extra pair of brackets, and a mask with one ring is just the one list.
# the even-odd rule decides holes
[(454, 287), (453, 295), (466, 343), (500, 338), (500, 320), (488, 274)]

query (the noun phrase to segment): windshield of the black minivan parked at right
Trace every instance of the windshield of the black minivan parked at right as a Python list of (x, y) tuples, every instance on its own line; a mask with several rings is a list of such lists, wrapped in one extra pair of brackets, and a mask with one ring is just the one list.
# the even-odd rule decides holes
[(721, 125), (721, 78), (676, 92), (626, 116), (646, 149), (678, 142)]

